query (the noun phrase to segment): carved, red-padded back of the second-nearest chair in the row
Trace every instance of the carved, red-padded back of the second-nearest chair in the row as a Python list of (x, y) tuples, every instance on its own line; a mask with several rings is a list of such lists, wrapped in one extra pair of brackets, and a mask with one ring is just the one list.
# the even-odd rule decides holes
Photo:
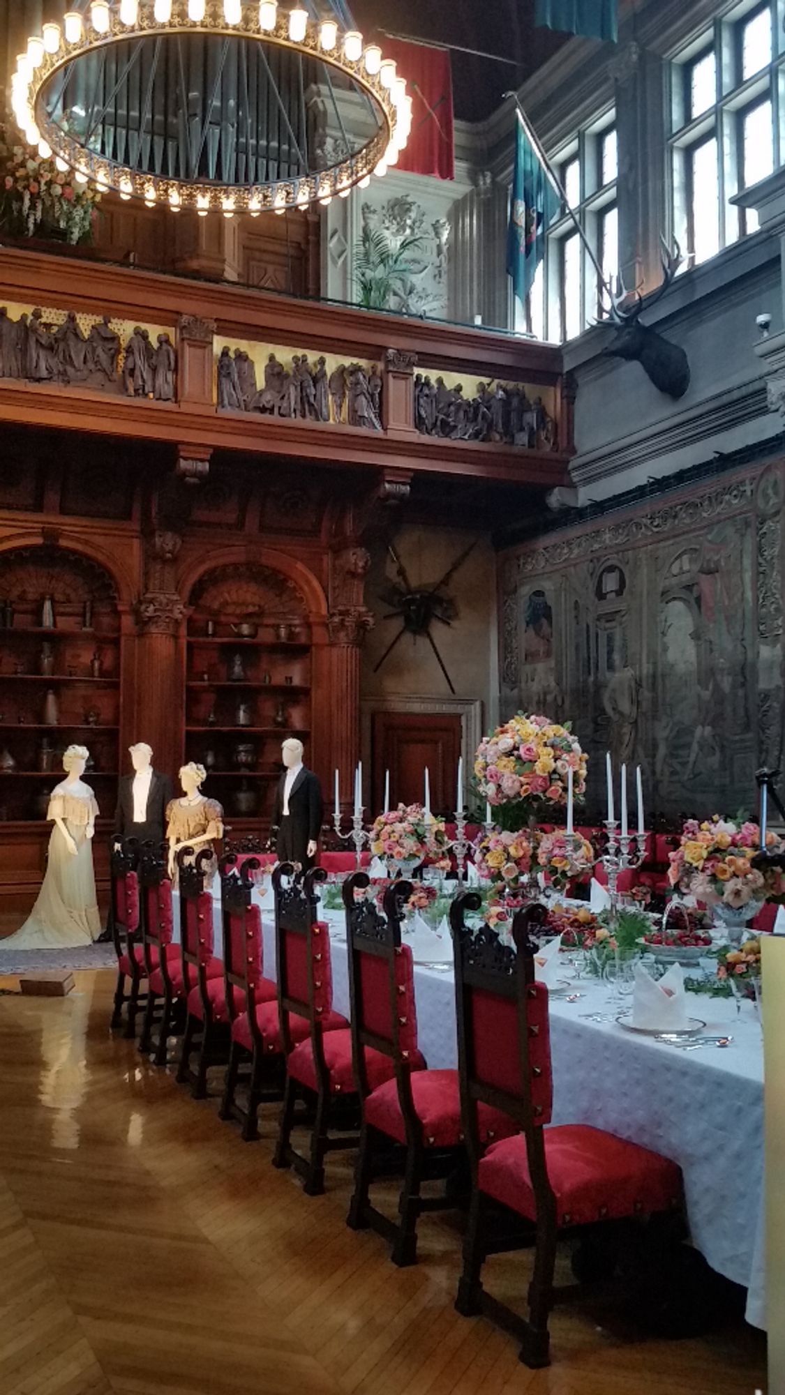
[(395, 1067), (406, 1133), (418, 1137), (411, 1088), (418, 1057), (413, 961), (411, 947), (401, 944), (401, 921), (412, 883), (401, 879), (387, 887), (384, 914), (363, 894), (369, 884), (367, 872), (355, 872), (344, 882), (355, 1081), (365, 1099), (370, 1094), (366, 1048), (388, 1056)]

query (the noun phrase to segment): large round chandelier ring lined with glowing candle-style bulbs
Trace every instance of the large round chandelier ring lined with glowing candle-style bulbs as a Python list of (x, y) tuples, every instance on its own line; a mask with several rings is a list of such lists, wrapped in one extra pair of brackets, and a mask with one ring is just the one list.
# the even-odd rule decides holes
[[(158, 15), (162, 18), (158, 18)], [(198, 18), (191, 18), (198, 14)], [(240, 39), (291, 50), (323, 63), (359, 88), (373, 105), (379, 128), (355, 151), (324, 167), (291, 177), (258, 183), (182, 177), (140, 170), (91, 149), (52, 117), (47, 98), (59, 74), (88, 54), (117, 50), (133, 39), (182, 39), (203, 36)], [(328, 45), (328, 46), (325, 46)], [(282, 213), (292, 208), (327, 204), (345, 197), (358, 184), (365, 187), (372, 173), (384, 174), (398, 159), (411, 130), (411, 98), (395, 64), (383, 61), (377, 45), (363, 47), (362, 35), (341, 31), (334, 21), (311, 20), (295, 7), (281, 13), (274, 0), (92, 0), (89, 15), (68, 13), (60, 25), (45, 25), (41, 36), (28, 39), (17, 60), (11, 84), (11, 105), (20, 130), (42, 156), (54, 156), (59, 167), (73, 169), (82, 181), (92, 179), (101, 191), (115, 190), (122, 198), (141, 198), (148, 206), (166, 202), (172, 211), (193, 208), (200, 215), (211, 209), (226, 218), (264, 211)]]

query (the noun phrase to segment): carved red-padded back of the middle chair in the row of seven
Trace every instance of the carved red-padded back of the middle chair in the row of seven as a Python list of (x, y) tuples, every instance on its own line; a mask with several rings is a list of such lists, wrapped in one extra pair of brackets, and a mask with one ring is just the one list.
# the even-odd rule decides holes
[(261, 912), (251, 904), (257, 857), (232, 854), (221, 861), (221, 923), (226, 1013), (233, 1023), (247, 1013), (256, 1030), (256, 989), (263, 972)]

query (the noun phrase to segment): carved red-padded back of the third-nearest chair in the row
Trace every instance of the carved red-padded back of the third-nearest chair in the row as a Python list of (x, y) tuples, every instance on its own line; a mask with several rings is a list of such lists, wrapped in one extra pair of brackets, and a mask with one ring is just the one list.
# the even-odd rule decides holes
[(323, 1023), (332, 1010), (330, 932), (325, 922), (317, 919), (316, 898), (317, 883), (325, 880), (323, 868), (298, 875), (292, 862), (281, 862), (272, 873), (281, 1041), (288, 1056), (295, 1045), (291, 1014), (305, 1017), (320, 1088), (327, 1088), (328, 1083)]

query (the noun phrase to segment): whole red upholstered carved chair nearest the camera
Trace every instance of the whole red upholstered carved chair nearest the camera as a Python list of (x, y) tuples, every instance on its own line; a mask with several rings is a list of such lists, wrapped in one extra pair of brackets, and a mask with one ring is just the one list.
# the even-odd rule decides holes
[[(549, 1364), (548, 1317), (555, 1302), (557, 1239), (605, 1221), (640, 1221), (676, 1208), (682, 1175), (676, 1163), (634, 1143), (587, 1124), (550, 1126), (552, 1074), (548, 989), (534, 976), (545, 908), (527, 907), (513, 922), (515, 949), (483, 926), (464, 923), (478, 910), (476, 891), (457, 897), (450, 911), (455, 947), (458, 1063), (464, 1131), (472, 1172), (469, 1225), (458, 1313), (485, 1313), (522, 1339), (527, 1366)], [(490, 1105), (515, 1131), (483, 1147), (479, 1110)], [(489, 1216), (501, 1208), (506, 1223), (492, 1239)], [(528, 1315), (520, 1317), (487, 1295), (480, 1282), (485, 1258), (514, 1249), (511, 1229), (534, 1226), (534, 1275)], [(584, 1235), (587, 1232), (584, 1230)], [(527, 1236), (531, 1243), (531, 1230)], [(562, 1296), (562, 1295), (560, 1295)]]

